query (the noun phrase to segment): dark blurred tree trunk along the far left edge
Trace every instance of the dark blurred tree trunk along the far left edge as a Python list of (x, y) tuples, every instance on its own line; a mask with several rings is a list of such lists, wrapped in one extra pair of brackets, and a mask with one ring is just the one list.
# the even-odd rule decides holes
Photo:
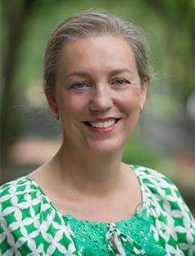
[(17, 89), (13, 77), (16, 73), (17, 54), (23, 39), (25, 24), (32, 10), (33, 0), (2, 2), (2, 20), (7, 30), (4, 45), (5, 54), (2, 60), (2, 99), (1, 99), (1, 162), (7, 164), (7, 151), (16, 140), (20, 131), (20, 120), (17, 114), (11, 113), (16, 105)]

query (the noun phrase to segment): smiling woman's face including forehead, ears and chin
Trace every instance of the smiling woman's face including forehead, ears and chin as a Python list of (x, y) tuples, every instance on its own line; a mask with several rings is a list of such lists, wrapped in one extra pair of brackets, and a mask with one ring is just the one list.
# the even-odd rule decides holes
[(147, 95), (134, 54), (114, 36), (86, 38), (61, 49), (55, 97), (66, 148), (98, 154), (122, 151)]

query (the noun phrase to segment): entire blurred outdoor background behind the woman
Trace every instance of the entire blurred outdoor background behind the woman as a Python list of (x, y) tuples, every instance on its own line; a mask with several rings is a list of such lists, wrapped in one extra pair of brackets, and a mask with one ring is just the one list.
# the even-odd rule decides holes
[(2, 0), (1, 184), (57, 151), (61, 128), (43, 96), (44, 49), (61, 21), (91, 7), (129, 17), (152, 48), (156, 75), (124, 161), (167, 175), (194, 213), (193, 0)]

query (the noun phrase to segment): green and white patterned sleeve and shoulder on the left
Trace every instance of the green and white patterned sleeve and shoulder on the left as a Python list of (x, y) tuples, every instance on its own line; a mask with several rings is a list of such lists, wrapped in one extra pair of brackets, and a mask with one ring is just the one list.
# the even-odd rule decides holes
[(16, 255), (51, 255), (58, 244), (63, 252), (75, 251), (72, 237), (66, 220), (33, 179), (22, 177), (0, 187), (0, 255), (10, 255), (13, 248)]

